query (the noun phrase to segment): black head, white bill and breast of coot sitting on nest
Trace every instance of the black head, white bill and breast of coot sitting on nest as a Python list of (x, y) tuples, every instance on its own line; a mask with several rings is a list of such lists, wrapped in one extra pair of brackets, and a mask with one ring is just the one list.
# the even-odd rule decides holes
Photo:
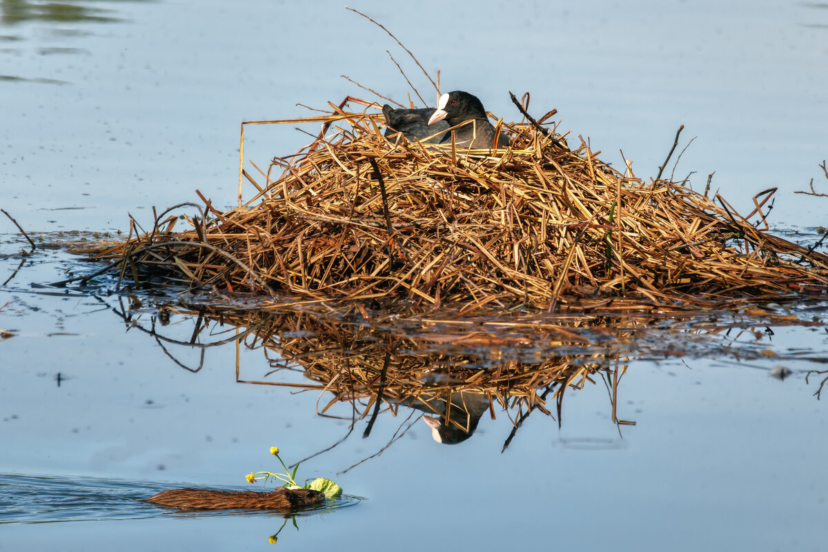
[[(458, 146), (472, 147), (475, 150), (489, 150), (494, 143), (494, 127), (486, 117), (486, 110), (480, 100), (469, 94), (455, 90), (440, 96), (437, 110), (431, 115), (428, 124), (445, 119), (449, 127), (465, 122), (462, 127), (456, 128), (455, 140)], [(445, 142), (450, 142), (449, 137)], [(444, 142), (444, 143), (445, 143)], [(498, 147), (509, 145), (509, 139), (502, 132), (498, 134)]]

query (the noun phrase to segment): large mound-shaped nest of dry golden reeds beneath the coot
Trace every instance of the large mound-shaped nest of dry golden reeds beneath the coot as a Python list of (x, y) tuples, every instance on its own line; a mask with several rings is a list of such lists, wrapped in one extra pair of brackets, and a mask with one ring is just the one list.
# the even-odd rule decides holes
[(583, 140), (568, 146), (546, 122), (555, 112), (498, 121), (511, 146), (470, 151), (386, 138), (382, 115), (331, 105), (330, 115), (276, 121), (323, 130), (257, 178), (242, 171), (258, 190), (243, 206), (219, 211), (202, 198), (181, 232), (168, 210), (96, 258), (138, 286), (463, 312), (617, 296), (721, 304), (828, 285), (828, 256), (749, 222), (763, 220), (759, 202), (742, 217), (719, 194), (621, 173)]

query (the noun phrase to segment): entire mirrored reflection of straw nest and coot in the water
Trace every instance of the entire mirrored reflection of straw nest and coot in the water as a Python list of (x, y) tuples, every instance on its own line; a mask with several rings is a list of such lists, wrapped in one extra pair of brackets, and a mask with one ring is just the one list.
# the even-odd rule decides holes
[[(315, 391), (320, 396), (317, 413), (349, 419), (349, 433), (364, 422), (368, 435), (379, 415), (396, 416), (402, 407), (409, 418), (423, 415), (443, 444), (469, 439), (485, 415), (494, 419), (502, 413), (513, 422), (504, 443), (508, 446), (532, 412), (560, 425), (566, 390), (597, 382), (608, 392), (614, 424), (634, 424), (619, 420), (615, 411), (619, 381), (630, 359), (692, 356), (702, 350), (717, 357), (759, 358), (765, 353), (756, 337), (762, 332), (749, 329), (745, 319), (711, 322), (709, 313), (683, 321), (673, 312), (629, 310), (623, 316), (581, 310), (464, 318), (448, 310), (369, 312), (362, 303), (238, 304), (232, 310), (176, 305), (154, 310), (147, 329), (138, 324), (137, 314), (146, 309), (136, 296), (132, 299), (120, 314), (131, 327), (152, 334), (174, 360), (170, 343), (201, 348), (202, 360), (206, 348), (236, 343), (240, 383)], [(156, 322), (169, 324), (171, 315), (193, 320), (191, 333), (185, 330), (189, 341), (156, 331)], [(762, 317), (777, 324), (797, 320), (767, 312)], [(748, 332), (755, 344), (711, 337), (735, 328)], [(262, 351), (267, 367), (241, 366), (242, 349)], [(349, 406), (348, 416), (334, 409), (338, 405)]]

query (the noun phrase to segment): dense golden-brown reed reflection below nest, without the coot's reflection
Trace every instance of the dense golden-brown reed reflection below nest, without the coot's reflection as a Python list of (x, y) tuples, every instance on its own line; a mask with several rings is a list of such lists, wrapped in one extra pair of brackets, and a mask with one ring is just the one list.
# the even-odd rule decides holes
[[(310, 322), (310, 321), (309, 321)], [(541, 362), (481, 358), (470, 354), (429, 353), (427, 339), (378, 339), (372, 333), (344, 330), (326, 322), (313, 324), (314, 335), (282, 339), (279, 353), (285, 362), (301, 364), (305, 376), (320, 382), (336, 401), (369, 397), (363, 415), (378, 396), (392, 406), (412, 401), (429, 403), (458, 392), (475, 392), (503, 408), (544, 410), (537, 390), (552, 382), (582, 386), (595, 363), (570, 364), (570, 358), (551, 356)]]

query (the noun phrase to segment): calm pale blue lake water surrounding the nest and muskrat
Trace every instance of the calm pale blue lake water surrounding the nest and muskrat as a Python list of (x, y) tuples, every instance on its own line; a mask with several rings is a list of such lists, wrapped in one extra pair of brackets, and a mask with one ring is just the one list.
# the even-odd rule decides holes
[[(530, 111), (557, 108), (559, 130), (614, 166), (623, 151), (641, 177), (656, 174), (684, 124), (680, 146), (696, 139), (676, 179), (692, 173), (699, 189), (715, 171), (714, 188), (743, 212), (778, 187), (771, 223), (793, 241), (826, 226), (828, 199), (794, 194), (811, 179), (828, 193), (818, 166), (828, 157), (824, 3), (354, 7), (441, 70), (442, 89), (473, 92), (497, 116), (517, 119), (508, 91), (529, 91)], [(129, 214), (149, 224), (152, 206), (197, 201), (195, 190), (232, 206), (240, 122), (310, 114), (296, 103), (375, 99), (341, 74), (407, 98), (386, 50), (433, 105), (407, 54), (340, 3), (0, 1), (0, 207), (38, 234), (126, 231)], [(289, 125), (248, 127), (245, 156), (266, 166), (307, 140)], [(26, 247), (16, 233), (0, 216), (0, 282), (13, 276), (0, 287), (0, 329), (14, 333), (0, 341), (0, 550), (270, 546), (282, 516), (176, 516), (138, 498), (241, 486), (277, 468), (273, 445), (288, 460), (318, 453), (348, 434), (349, 406), (323, 417), (330, 396), (319, 391), (239, 383), (310, 383), (268, 375), (261, 348), (240, 348), (237, 376), (233, 343), (159, 342), (142, 331), (157, 314), (151, 301), (124, 319), (128, 300), (103, 290), (43, 293), (30, 283), (87, 267), (47, 250), (15, 272)], [(802, 324), (777, 324), (774, 310)], [(406, 406), (379, 415), (365, 439), (362, 421), (301, 473), (333, 476), (367, 500), (301, 516), (298, 531), (288, 521), (277, 545), (825, 550), (828, 413), (814, 396), (825, 375), (806, 381), (826, 370), (825, 318), (824, 305), (771, 305), (707, 329), (626, 336), (606, 363), (627, 368), (615, 408), (635, 425), (614, 424), (599, 373), (566, 391), (560, 428), (551, 401), (554, 418), (533, 412), (505, 450), (514, 410), (482, 415), (453, 446), (435, 443)], [(186, 343), (195, 324), (176, 312), (159, 329)], [(211, 327), (209, 340), (223, 330), (232, 325)], [(784, 380), (769, 375), (780, 366), (792, 371)]]

